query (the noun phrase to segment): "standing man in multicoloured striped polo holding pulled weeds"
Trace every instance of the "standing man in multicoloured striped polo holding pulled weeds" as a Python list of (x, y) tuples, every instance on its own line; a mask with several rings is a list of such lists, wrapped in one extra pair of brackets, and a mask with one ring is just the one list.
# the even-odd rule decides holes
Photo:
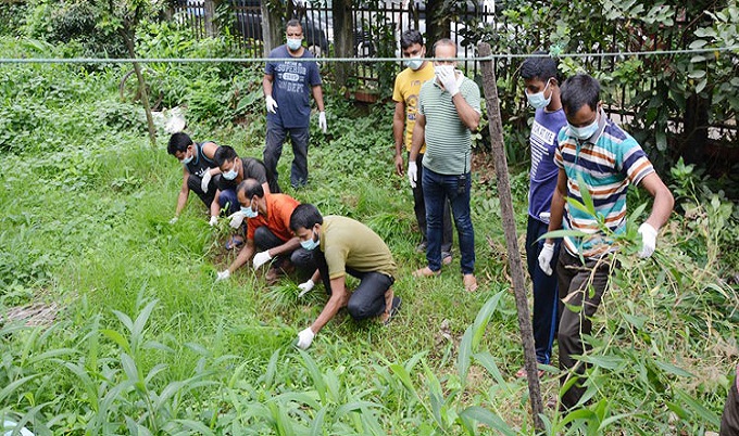
[[(642, 246), (639, 256), (649, 257), (656, 245), (657, 230), (673, 210), (673, 195), (656, 175), (637, 141), (610, 120), (600, 101), (600, 85), (594, 78), (578, 74), (561, 88), (567, 126), (559, 134), (554, 163), (560, 168), (552, 197), (549, 230), (563, 227), (581, 232), (562, 242), (556, 274), (560, 298), (564, 304), (558, 343), (560, 369), (572, 371), (561, 379), (568, 385), (562, 394), (561, 410), (579, 406), (585, 394), (580, 377), (585, 366), (573, 356), (584, 355), (583, 336), (592, 329), (596, 313), (608, 287), (612, 269), (614, 236), (626, 230), (626, 191), (629, 184), (642, 185), (653, 197), (652, 211), (639, 227)], [(587, 192), (587, 195), (584, 193)], [(571, 207), (565, 197), (587, 204), (592, 200), (594, 215)], [(566, 210), (566, 214), (564, 211)], [(564, 225), (564, 226), (562, 226)], [(553, 240), (548, 239), (539, 255), (544, 271), (553, 257)]]

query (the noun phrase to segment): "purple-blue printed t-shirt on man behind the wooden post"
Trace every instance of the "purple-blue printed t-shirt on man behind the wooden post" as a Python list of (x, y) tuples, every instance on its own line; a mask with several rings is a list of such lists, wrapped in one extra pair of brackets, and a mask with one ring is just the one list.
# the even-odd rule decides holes
[(552, 205), (552, 194), (556, 189), (560, 168), (554, 165), (558, 134), (567, 125), (564, 111), (546, 112), (536, 110), (529, 143), (531, 146), (530, 188), (528, 190), (528, 215), (549, 222), (547, 215)]

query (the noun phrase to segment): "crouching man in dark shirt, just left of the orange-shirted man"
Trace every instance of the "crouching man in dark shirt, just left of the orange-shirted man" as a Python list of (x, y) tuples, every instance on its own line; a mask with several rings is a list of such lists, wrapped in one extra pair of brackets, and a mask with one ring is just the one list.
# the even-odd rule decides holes
[[(215, 153), (215, 162), (221, 168), (221, 180), (215, 197), (211, 203), (211, 226), (218, 222), (221, 210), (226, 215), (239, 211), (239, 202), (236, 197), (236, 187), (245, 179), (256, 179), (264, 187), (265, 192), (278, 193), (279, 185), (275, 177), (267, 170), (264, 164), (252, 157), (241, 158), (236, 150), (228, 145), (222, 145)], [(233, 243), (240, 245), (239, 241), (229, 241), (226, 248), (233, 248)]]

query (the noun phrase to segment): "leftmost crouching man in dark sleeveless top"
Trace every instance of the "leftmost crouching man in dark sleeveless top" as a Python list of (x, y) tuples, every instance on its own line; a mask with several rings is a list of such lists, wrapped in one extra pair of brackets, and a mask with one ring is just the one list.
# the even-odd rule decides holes
[(175, 216), (170, 223), (174, 225), (179, 219), (190, 191), (198, 194), (205, 206), (210, 207), (213, 203), (221, 178), (221, 169), (214, 158), (217, 150), (218, 145), (215, 142), (197, 143), (184, 132), (170, 137), (166, 151), (183, 164), (183, 185), (177, 196)]

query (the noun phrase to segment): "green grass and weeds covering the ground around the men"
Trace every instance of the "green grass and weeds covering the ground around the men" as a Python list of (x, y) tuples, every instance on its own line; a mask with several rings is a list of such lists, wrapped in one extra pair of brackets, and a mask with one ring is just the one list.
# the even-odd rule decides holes
[[(0, 326), (0, 413), (37, 434), (533, 433), (527, 386), (513, 376), (523, 356), (497, 188), (481, 182), (491, 175), (475, 175), (473, 187), (480, 290), (463, 291), (459, 257), (441, 277), (415, 280), (424, 255), (414, 251), (408, 182), (392, 174), (392, 110), (356, 116), (329, 95), (329, 134), (312, 131), (311, 183), (286, 191), (380, 234), (404, 303), (388, 328), (340, 312), (298, 351), (292, 343), (321, 311), (323, 286), (298, 299), (292, 281), (270, 288), (249, 268), (215, 283), (235, 256), (222, 247), (226, 226), (209, 227), (195, 195), (168, 225), (179, 166), (166, 136), (152, 150), (121, 123), (135, 108), (116, 103), (114, 70), (23, 74), (74, 86), (47, 95), (47, 127), (14, 121), (24, 134), (0, 142), (0, 306), (62, 309), (47, 326)], [(14, 90), (17, 104), (46, 107), (42, 90), (26, 91)], [(79, 125), (53, 123), (64, 118)], [(191, 129), (197, 140), (261, 156), (262, 124)], [(290, 161), (286, 150), (285, 187)], [(512, 187), (523, 235), (525, 171)], [(593, 405), (566, 418), (547, 410), (548, 433), (717, 428), (739, 305), (736, 286), (714, 272), (727, 268), (716, 235), (734, 221), (715, 205), (696, 207), (705, 226), (675, 216), (654, 259), (623, 256), (594, 323)], [(547, 397), (558, 387), (555, 373), (543, 380)]]

